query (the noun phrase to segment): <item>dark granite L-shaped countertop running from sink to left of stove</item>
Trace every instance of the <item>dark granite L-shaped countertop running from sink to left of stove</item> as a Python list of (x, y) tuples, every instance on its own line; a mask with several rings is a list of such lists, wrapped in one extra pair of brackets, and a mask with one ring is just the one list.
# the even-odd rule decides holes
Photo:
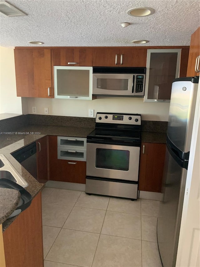
[[(37, 193), (42, 190), (44, 184), (37, 182), (37, 180), (12, 157), (11, 153), (46, 135), (87, 137), (91, 131), (93, 131), (93, 128), (27, 125), (15, 129), (15, 131), (12, 132), (13, 134), (0, 135), (0, 153), (5, 155), (17, 172), (28, 182), (28, 186), (25, 189), (32, 195), (32, 198), (34, 198)], [(29, 134), (27, 134), (28, 132)], [(8, 206), (8, 210), (9, 209), (10, 207)], [(8, 210), (7, 208), (4, 209), (5, 214), (9, 213)], [(3, 231), (16, 217), (17, 216), (9, 218), (3, 223)]]

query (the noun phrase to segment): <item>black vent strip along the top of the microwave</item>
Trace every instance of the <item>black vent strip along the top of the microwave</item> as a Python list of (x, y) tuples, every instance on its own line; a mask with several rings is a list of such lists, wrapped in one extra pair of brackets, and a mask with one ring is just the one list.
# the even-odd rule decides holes
[(145, 74), (146, 67), (93, 67), (93, 73)]

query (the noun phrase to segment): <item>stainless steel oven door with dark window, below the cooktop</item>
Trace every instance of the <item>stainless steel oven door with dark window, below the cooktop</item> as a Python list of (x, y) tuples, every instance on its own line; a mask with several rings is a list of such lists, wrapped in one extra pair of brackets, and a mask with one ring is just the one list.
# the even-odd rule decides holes
[(87, 143), (86, 175), (138, 181), (140, 147)]

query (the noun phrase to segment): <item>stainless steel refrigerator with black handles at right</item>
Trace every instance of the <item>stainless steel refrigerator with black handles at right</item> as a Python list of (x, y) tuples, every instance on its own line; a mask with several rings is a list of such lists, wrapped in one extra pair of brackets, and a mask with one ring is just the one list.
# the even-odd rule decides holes
[(176, 265), (199, 77), (173, 81), (157, 239), (164, 267)]

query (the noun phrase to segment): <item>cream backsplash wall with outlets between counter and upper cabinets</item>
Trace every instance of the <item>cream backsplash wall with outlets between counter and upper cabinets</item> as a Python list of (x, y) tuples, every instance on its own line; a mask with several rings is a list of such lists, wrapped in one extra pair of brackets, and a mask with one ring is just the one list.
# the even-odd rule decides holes
[(89, 117), (89, 109), (97, 112), (138, 113), (142, 120), (168, 121), (169, 103), (144, 103), (143, 98), (128, 97), (98, 97), (95, 100), (23, 98), (23, 105), (28, 106), (28, 113), (32, 114), (32, 107), (36, 107), (37, 114), (44, 114), (47, 107), (49, 115)]

